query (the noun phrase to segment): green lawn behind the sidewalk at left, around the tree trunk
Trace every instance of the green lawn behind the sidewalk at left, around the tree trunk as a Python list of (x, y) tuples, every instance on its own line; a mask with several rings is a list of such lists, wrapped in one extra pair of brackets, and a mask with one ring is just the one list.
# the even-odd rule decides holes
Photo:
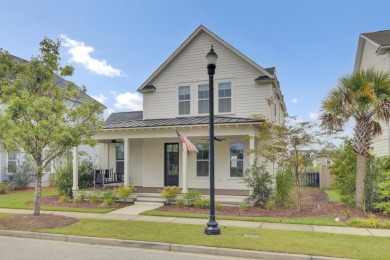
[[(43, 190), (42, 197), (58, 194), (55, 189)], [(0, 208), (9, 209), (33, 209), (33, 205), (27, 205), (28, 202), (34, 200), (34, 191), (18, 192), (12, 194), (0, 195)], [(98, 208), (64, 208), (64, 207), (49, 207), (41, 206), (41, 210), (51, 211), (72, 211), (72, 212), (88, 212), (88, 213), (107, 213), (115, 209)]]

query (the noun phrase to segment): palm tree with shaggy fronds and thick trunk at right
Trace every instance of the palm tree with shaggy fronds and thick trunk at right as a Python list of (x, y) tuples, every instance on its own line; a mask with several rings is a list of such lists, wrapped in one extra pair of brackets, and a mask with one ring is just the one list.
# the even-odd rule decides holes
[(380, 121), (390, 120), (390, 74), (373, 69), (342, 77), (322, 101), (321, 125), (330, 131), (342, 130), (354, 119), (353, 149), (357, 155), (355, 207), (362, 210), (366, 160), (374, 137), (382, 134)]

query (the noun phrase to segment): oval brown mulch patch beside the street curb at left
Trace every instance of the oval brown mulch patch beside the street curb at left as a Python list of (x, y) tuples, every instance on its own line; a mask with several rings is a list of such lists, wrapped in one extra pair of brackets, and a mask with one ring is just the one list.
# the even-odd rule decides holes
[(79, 222), (77, 218), (42, 214), (34, 215), (17, 215), (7, 218), (0, 218), (0, 229), (2, 230), (19, 230), (34, 231), (43, 228), (65, 227)]

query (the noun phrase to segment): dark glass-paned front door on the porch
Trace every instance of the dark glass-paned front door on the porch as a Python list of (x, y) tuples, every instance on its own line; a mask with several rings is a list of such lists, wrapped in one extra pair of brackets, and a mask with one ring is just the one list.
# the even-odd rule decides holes
[(179, 144), (165, 144), (164, 186), (179, 186)]

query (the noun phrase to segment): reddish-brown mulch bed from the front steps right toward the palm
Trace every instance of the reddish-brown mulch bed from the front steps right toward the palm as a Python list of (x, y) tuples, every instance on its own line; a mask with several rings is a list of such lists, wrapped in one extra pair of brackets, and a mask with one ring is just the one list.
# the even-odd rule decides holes
[[(295, 196), (295, 194), (293, 194)], [(209, 209), (198, 209), (194, 207), (177, 207), (175, 205), (166, 205), (159, 211), (170, 211), (190, 214), (209, 214)], [(375, 216), (380, 219), (390, 219), (390, 216), (384, 216), (379, 213), (364, 213), (348, 208), (344, 203), (335, 203), (328, 199), (327, 194), (316, 188), (302, 189), (302, 209), (297, 210), (295, 204), (287, 206), (277, 206), (273, 210), (267, 210), (261, 207), (248, 207), (240, 210), (239, 207), (222, 207), (216, 210), (217, 215), (223, 216), (240, 216), (240, 217), (338, 217), (341, 220), (347, 220), (351, 217), (367, 218)]]

